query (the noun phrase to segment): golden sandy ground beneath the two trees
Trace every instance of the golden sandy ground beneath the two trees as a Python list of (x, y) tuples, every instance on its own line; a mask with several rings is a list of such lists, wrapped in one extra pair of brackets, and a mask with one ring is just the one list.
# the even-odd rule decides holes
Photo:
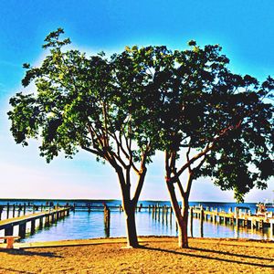
[(118, 238), (1, 248), (0, 273), (274, 273), (274, 242), (190, 238), (182, 249), (175, 237), (142, 237), (141, 244), (122, 248)]

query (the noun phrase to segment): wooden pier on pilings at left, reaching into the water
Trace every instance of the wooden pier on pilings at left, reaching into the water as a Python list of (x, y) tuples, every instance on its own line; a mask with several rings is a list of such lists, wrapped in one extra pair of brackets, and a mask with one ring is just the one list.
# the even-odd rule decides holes
[(61, 207), (41, 211), (25, 216), (17, 216), (0, 221), (0, 230), (5, 229), (5, 236), (14, 235), (14, 227), (18, 226), (18, 236), (21, 238), (26, 237), (26, 224), (30, 222), (30, 234), (34, 234), (37, 227), (48, 227), (50, 224), (58, 221), (58, 219), (69, 215), (69, 208)]

